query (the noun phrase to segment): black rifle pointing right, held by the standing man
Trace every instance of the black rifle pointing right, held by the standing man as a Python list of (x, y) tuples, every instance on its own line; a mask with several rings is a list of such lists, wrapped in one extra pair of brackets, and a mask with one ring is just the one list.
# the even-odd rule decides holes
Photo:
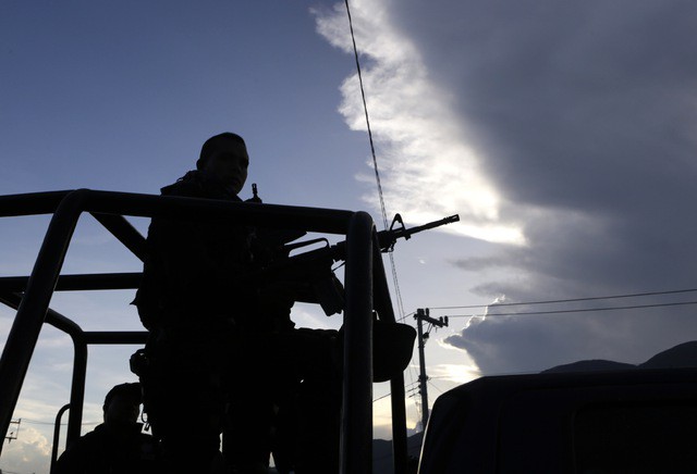
[[(389, 229), (377, 233), (380, 251), (392, 252), (398, 239), (408, 240), (414, 234), (460, 221), (460, 215), (451, 215), (416, 227), (406, 228), (400, 214), (392, 220)], [(341, 313), (344, 308), (343, 285), (332, 270), (334, 262), (346, 260), (346, 241), (330, 245), (326, 238), (288, 244), (297, 234), (283, 234), (282, 245), (274, 246), (268, 263), (253, 272), (250, 280), (259, 285), (281, 284), (291, 289), (295, 301), (317, 302), (328, 316)], [(279, 244), (279, 234), (274, 234)], [(261, 237), (261, 236), (260, 236)], [(268, 244), (271, 244), (270, 241)], [(294, 250), (321, 245), (320, 248), (290, 255)]]

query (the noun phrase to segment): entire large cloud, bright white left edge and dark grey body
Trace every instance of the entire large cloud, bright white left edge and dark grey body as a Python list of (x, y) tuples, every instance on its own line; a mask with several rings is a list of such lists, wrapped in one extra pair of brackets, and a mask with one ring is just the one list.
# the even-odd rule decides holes
[[(486, 274), (473, 294), (524, 302), (694, 287), (697, 4), (363, 0), (352, 13), (387, 201), (419, 219), (457, 210), (460, 232), (517, 244), (453, 249), (453, 265)], [(343, 12), (318, 24), (348, 51)], [(341, 112), (362, 129), (356, 87), (344, 83)], [(693, 312), (487, 316), (445, 342), (484, 373), (640, 362), (695, 334)]]

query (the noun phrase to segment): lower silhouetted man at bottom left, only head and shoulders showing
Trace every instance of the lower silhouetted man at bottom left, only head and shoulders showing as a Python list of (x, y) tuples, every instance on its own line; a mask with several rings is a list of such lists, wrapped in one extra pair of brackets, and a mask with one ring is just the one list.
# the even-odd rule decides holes
[(157, 440), (142, 433), (140, 385), (121, 384), (107, 394), (103, 424), (72, 444), (56, 463), (54, 474), (162, 473)]

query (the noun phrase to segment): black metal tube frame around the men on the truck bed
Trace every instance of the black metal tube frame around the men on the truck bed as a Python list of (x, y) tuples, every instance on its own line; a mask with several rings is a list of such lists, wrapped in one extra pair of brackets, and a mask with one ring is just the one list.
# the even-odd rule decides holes
[[(11, 416), (42, 324), (73, 338), (75, 360), (71, 387), (68, 442), (80, 436), (88, 344), (140, 344), (144, 332), (84, 332), (49, 308), (56, 290), (135, 288), (139, 274), (60, 275), (80, 216), (91, 213), (136, 257), (143, 259), (143, 237), (123, 215), (191, 220), (236, 219), (248, 225), (303, 229), (346, 236), (344, 311), (344, 391), (341, 473), (370, 473), (372, 451), (372, 310), (394, 322), (384, 269), (369, 214), (318, 208), (249, 204), (195, 198), (161, 197), (77, 189), (0, 197), (0, 217), (53, 213), (32, 275), (0, 278), (0, 302), (17, 312), (0, 359), (0, 432)], [(24, 292), (20, 298), (17, 295)], [(375, 304), (374, 304), (375, 297)], [(392, 384), (395, 473), (406, 472), (404, 379)], [(400, 395), (402, 394), (402, 395)], [(62, 414), (62, 413), (61, 413)], [(402, 439), (403, 438), (403, 439)], [(0, 446), (0, 453), (1, 453)]]

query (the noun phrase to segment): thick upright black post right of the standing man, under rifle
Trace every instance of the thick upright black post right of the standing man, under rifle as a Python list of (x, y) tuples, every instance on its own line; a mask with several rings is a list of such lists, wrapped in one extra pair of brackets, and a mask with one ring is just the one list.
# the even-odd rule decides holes
[(372, 219), (356, 212), (346, 235), (341, 474), (372, 472)]

